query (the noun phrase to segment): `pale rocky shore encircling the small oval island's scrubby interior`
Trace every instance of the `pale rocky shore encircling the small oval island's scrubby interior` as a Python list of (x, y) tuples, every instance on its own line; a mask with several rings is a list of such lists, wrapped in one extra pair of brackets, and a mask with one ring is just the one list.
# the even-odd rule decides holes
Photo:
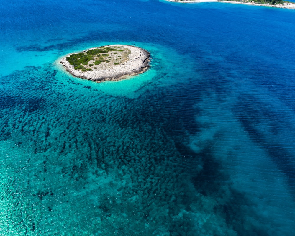
[[(141, 74), (149, 68), (150, 53), (140, 47), (131, 45), (106, 45), (105, 47), (120, 47), (130, 50), (128, 60), (123, 63), (119, 63), (119, 65), (114, 65), (114, 63), (101, 63), (99, 65), (95, 65), (97, 69), (84, 72), (81, 70), (75, 70), (74, 66), (66, 60), (66, 57), (69, 57), (73, 53), (63, 57), (60, 63), (62, 63), (64, 68), (73, 76), (95, 82), (103, 82), (106, 80), (118, 81), (128, 76)], [(98, 47), (90, 49), (95, 48)]]

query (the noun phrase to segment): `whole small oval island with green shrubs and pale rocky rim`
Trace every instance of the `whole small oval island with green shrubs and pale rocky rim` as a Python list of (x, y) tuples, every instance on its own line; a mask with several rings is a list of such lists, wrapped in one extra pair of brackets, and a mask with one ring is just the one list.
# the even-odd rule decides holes
[(150, 53), (131, 45), (106, 45), (71, 53), (60, 63), (73, 76), (100, 83), (145, 72), (149, 68)]

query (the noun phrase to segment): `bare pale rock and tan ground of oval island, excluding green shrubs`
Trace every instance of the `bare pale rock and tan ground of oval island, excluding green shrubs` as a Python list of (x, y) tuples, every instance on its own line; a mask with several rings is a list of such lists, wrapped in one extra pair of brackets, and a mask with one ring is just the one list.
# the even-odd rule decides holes
[(105, 45), (87, 49), (82, 53), (87, 53), (87, 51), (92, 49), (103, 50), (104, 48), (112, 48), (115, 50), (109, 51), (107, 54), (99, 54), (100, 58), (104, 56), (103, 59), (105, 59), (105, 61), (98, 65), (93, 65), (95, 64), (95, 60), (98, 60), (97, 58), (90, 60), (87, 65), (83, 65), (84, 70), (88, 69), (89, 71), (75, 69), (74, 65), (71, 65), (67, 60), (67, 57), (77, 53), (68, 54), (62, 58), (60, 63), (62, 63), (66, 71), (71, 73), (74, 77), (88, 79), (98, 83), (107, 80), (119, 81), (129, 76), (141, 74), (150, 67), (150, 53), (140, 47), (131, 45)]

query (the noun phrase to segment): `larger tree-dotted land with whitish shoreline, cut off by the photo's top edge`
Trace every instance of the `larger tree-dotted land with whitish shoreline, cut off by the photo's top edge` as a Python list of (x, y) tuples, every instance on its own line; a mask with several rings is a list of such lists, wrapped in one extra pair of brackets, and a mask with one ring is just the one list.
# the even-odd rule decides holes
[(193, 3), (193, 2), (228, 2), (237, 4), (248, 4), (255, 6), (271, 6), (278, 8), (295, 9), (295, 3), (283, 0), (166, 0), (171, 2)]

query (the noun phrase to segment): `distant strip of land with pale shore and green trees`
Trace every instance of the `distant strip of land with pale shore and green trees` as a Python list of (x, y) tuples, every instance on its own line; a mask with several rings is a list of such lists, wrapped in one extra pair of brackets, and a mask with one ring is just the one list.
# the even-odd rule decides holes
[(226, 3), (234, 3), (234, 4), (247, 4), (247, 5), (254, 5), (254, 6), (269, 6), (269, 7), (276, 7), (276, 8), (286, 8), (286, 9), (295, 9), (295, 3), (292, 2), (285, 2), (284, 5), (277, 4), (259, 4), (255, 2), (241, 2), (241, 1), (223, 1), (223, 0), (166, 0), (170, 2), (181, 2), (181, 3), (196, 3), (196, 2), (226, 2)]

